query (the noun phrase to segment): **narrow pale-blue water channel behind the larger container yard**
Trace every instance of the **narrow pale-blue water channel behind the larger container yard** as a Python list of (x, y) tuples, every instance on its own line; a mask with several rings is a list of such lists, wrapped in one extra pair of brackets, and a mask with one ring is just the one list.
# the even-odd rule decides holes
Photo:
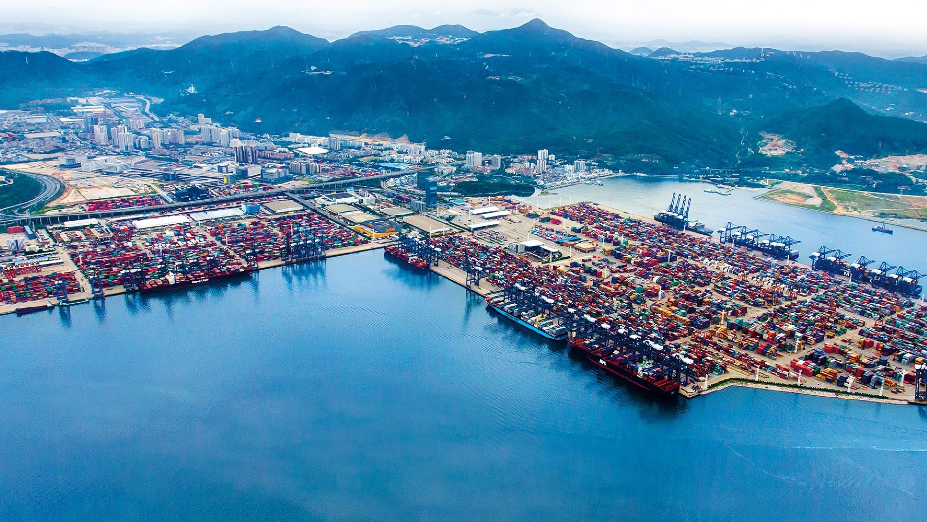
[[(655, 176), (618, 176), (602, 180), (603, 185), (573, 185), (551, 190), (548, 196), (520, 198), (540, 207), (552, 207), (594, 201), (618, 210), (644, 217), (667, 210), (673, 193), (692, 198), (689, 219), (705, 223), (716, 231), (727, 223), (758, 228), (765, 233), (792, 236), (801, 241), (794, 248), (801, 252), (798, 261), (810, 262), (808, 255), (821, 245), (839, 248), (852, 254), (848, 262), (859, 256), (927, 273), (927, 232), (890, 225), (893, 235), (873, 232), (876, 222), (849, 216), (838, 216), (820, 210), (802, 209), (756, 197), (766, 189), (735, 189), (730, 196), (709, 194), (715, 185), (678, 178)], [(714, 238), (717, 240), (717, 232)]]

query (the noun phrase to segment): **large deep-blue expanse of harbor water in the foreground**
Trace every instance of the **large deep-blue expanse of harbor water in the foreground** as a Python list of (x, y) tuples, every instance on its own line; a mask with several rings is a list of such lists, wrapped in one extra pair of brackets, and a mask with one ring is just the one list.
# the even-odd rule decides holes
[(5, 521), (914, 520), (925, 500), (925, 408), (657, 400), (378, 251), (0, 326)]

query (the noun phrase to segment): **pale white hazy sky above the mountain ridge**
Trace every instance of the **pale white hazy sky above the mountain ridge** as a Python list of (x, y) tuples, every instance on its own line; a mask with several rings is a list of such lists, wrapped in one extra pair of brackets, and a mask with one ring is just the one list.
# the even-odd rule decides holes
[(927, 54), (924, 0), (0, 0), (0, 25), (202, 33), (282, 24), (337, 39), (400, 23), (476, 31), (541, 18), (609, 45), (654, 39)]

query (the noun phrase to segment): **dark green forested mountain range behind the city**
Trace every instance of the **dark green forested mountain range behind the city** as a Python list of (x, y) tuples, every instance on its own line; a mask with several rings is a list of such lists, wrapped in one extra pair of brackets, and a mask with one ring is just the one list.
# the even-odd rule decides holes
[[(827, 169), (840, 142), (819, 132), (826, 127), (852, 135), (849, 154), (927, 152), (927, 64), (916, 59), (743, 47), (628, 53), (540, 19), (483, 33), (396, 26), (335, 42), (277, 26), (82, 63), (4, 52), (0, 75), (6, 108), (107, 87), (252, 132), (405, 134), (459, 150), (747, 167), (767, 131), (802, 151), (765, 167)], [(196, 95), (184, 91), (191, 83)]]

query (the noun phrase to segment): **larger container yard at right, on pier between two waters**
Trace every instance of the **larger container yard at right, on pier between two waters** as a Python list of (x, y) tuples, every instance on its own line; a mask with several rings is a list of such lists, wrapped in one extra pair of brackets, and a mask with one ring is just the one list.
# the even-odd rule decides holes
[[(518, 210), (504, 198), (471, 201), (476, 209), (490, 203)], [(918, 370), (927, 357), (927, 306), (909, 289), (887, 291), (800, 264), (791, 238), (776, 241), (789, 248), (770, 250), (590, 203), (547, 215), (522, 210), (474, 234), (427, 239), (438, 251), (427, 264), (485, 296), (501, 320), (552, 342), (568, 339), (599, 371), (661, 395), (736, 384), (890, 402), (927, 398), (927, 373)], [(508, 242), (522, 237), (566, 247), (568, 255), (544, 262), (519, 254)], [(594, 249), (571, 248), (582, 243)], [(408, 257), (421, 264), (421, 256)]]

